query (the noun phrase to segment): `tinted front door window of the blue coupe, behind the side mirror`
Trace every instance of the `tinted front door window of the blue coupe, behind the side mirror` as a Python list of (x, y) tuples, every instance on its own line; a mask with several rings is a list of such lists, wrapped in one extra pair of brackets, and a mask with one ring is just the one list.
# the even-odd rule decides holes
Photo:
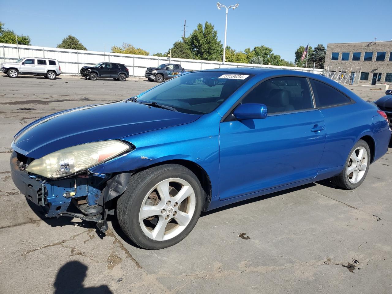
[(306, 78), (272, 78), (254, 88), (241, 103), (262, 103), (269, 114), (313, 108)]

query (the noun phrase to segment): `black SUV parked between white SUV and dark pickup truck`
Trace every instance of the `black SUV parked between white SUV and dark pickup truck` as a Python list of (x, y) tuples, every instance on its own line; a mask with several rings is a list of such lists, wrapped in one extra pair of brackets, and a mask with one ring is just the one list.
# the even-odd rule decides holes
[(113, 78), (124, 82), (129, 78), (129, 70), (120, 63), (100, 62), (94, 66), (83, 66), (80, 74), (87, 79), (95, 81), (97, 78)]

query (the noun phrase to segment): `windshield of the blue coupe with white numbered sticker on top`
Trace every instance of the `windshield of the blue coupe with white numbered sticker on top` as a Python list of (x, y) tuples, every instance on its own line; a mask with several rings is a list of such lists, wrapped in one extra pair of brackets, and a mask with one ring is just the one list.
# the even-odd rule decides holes
[(140, 94), (137, 102), (154, 102), (182, 113), (206, 114), (216, 109), (250, 77), (250, 74), (221, 71), (187, 73)]

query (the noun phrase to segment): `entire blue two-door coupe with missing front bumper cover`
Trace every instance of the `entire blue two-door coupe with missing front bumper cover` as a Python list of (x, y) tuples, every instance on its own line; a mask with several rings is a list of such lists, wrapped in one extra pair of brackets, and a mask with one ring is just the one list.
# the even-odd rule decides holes
[(331, 178), (365, 180), (387, 117), (320, 75), (221, 68), (37, 120), (15, 135), (13, 181), (45, 215), (116, 214), (146, 249), (180, 242), (200, 213)]

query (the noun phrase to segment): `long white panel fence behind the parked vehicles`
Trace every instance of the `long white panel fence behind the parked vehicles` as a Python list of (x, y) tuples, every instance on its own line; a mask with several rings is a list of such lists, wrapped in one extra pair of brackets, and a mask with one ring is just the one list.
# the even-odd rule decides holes
[[(18, 52), (19, 51), (19, 52)], [(307, 69), (303, 67), (288, 67), (276, 65), (260, 65), (260, 64), (243, 64), (207, 60), (192, 60), (180, 58), (166, 58), (157, 56), (143, 56), (120, 53), (105, 53), (99, 51), (84, 51), (59, 49), (51, 47), (38, 47), (19, 45), (19, 50), (15, 44), (0, 43), (0, 62), (13, 62), (20, 57), (44, 57), (54, 58), (60, 62), (63, 74), (79, 74), (80, 68), (85, 65), (94, 65), (102, 61), (117, 62), (125, 64), (129, 69), (130, 76), (144, 76), (147, 67), (156, 67), (166, 62), (179, 63), (187, 70), (213, 69), (218, 67), (262, 67), (275, 69), (288, 69), (296, 71), (307, 71), (316, 74), (322, 74), (322, 69)]]

